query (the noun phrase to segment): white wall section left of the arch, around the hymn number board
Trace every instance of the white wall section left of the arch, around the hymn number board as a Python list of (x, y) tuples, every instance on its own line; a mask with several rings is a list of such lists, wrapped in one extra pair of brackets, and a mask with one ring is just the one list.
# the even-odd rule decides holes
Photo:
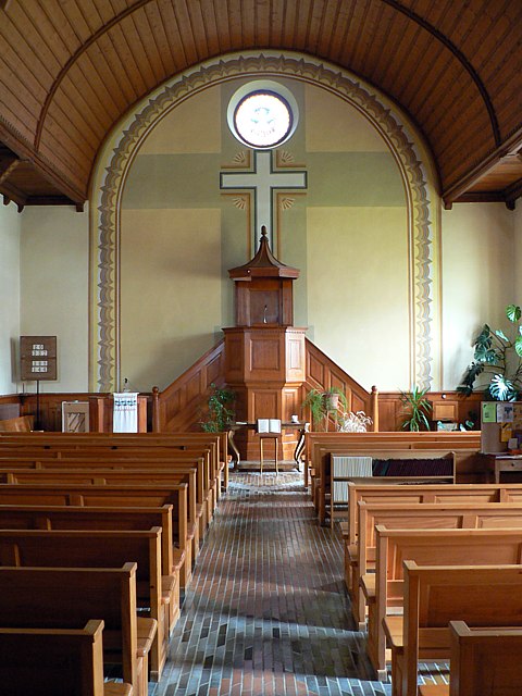
[(42, 391), (88, 390), (88, 221), (72, 207), (23, 213), (21, 333), (58, 336), (58, 380)]

